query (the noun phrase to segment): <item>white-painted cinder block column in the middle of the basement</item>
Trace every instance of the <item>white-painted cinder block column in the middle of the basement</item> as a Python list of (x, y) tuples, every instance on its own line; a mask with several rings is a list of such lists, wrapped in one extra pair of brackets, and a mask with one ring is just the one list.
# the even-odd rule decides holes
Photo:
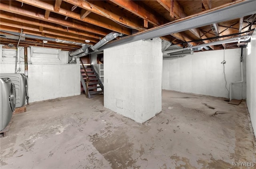
[(143, 123), (162, 110), (162, 41), (104, 50), (104, 106)]

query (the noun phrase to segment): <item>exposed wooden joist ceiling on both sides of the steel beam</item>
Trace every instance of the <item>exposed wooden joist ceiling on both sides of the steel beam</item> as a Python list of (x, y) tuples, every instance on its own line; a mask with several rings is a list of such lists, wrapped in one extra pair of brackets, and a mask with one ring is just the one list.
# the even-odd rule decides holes
[[(20, 46), (44, 46), (74, 51), (80, 45), (48, 41), (62, 39), (77, 43), (95, 44), (112, 31), (132, 35), (188, 16), (200, 15), (243, 0), (1, 0), (0, 44), (17, 45), (6, 31), (26, 35)], [(252, 33), (256, 14), (201, 28), (194, 28), (161, 37), (182, 47), (209, 43)], [(241, 47), (237, 43), (210, 46), (210, 50)], [(204, 50), (204, 49), (203, 49)]]

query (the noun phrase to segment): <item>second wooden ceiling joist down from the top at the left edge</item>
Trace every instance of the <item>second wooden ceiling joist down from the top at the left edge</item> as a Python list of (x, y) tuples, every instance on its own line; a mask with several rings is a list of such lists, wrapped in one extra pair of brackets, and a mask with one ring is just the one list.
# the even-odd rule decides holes
[[(32, 18), (27, 18), (25, 16), (20, 16), (20, 15), (16, 15), (16, 14), (12, 14), (9, 12), (5, 12), (5, 11), (0, 11), (0, 18), (2, 19), (7, 19), (7, 20), (13, 20), (13, 21), (19, 21), (22, 23), (26, 23), (26, 24), (30, 24), (30, 25), (35, 25), (35, 26), (43, 26), (44, 28), (50, 28), (50, 29), (54, 29), (54, 30), (58, 30), (62, 33), (66, 33), (67, 29), (62, 27), (62, 26), (58, 26), (57, 24), (52, 24), (49, 22), (44, 22), (41, 20), (36, 20), (36, 19), (32, 19)], [(78, 31), (78, 30), (74, 30), (72, 28), (68, 29), (69, 33), (74, 33), (74, 34), (78, 34), (78, 35), (83, 35), (86, 37), (92, 37), (94, 39), (100, 39), (102, 37), (96, 35), (96, 34), (91, 34), (91, 33), (86, 33), (85, 31)]]

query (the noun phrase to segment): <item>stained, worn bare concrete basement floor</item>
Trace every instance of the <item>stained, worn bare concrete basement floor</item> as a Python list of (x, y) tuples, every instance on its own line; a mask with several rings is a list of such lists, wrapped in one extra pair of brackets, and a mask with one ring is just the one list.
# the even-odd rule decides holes
[(104, 108), (102, 95), (34, 102), (13, 116), (0, 144), (1, 169), (228, 169), (256, 162), (244, 101), (167, 90), (162, 112), (144, 124)]

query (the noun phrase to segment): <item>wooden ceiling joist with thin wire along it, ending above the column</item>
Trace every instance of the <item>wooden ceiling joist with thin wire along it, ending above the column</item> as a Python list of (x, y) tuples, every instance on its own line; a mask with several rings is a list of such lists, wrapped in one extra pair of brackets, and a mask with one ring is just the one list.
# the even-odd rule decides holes
[(131, 18), (130, 16), (126, 16), (126, 14), (118, 9), (113, 8), (113, 5), (109, 3), (104, 3), (102, 1), (81, 1), (81, 0), (63, 0), (70, 4), (76, 5), (82, 9), (91, 11), (100, 16), (104, 16), (105, 18), (111, 18), (116, 22), (120, 22), (126, 26), (130, 26), (139, 31), (143, 30), (143, 25), (139, 19)]

